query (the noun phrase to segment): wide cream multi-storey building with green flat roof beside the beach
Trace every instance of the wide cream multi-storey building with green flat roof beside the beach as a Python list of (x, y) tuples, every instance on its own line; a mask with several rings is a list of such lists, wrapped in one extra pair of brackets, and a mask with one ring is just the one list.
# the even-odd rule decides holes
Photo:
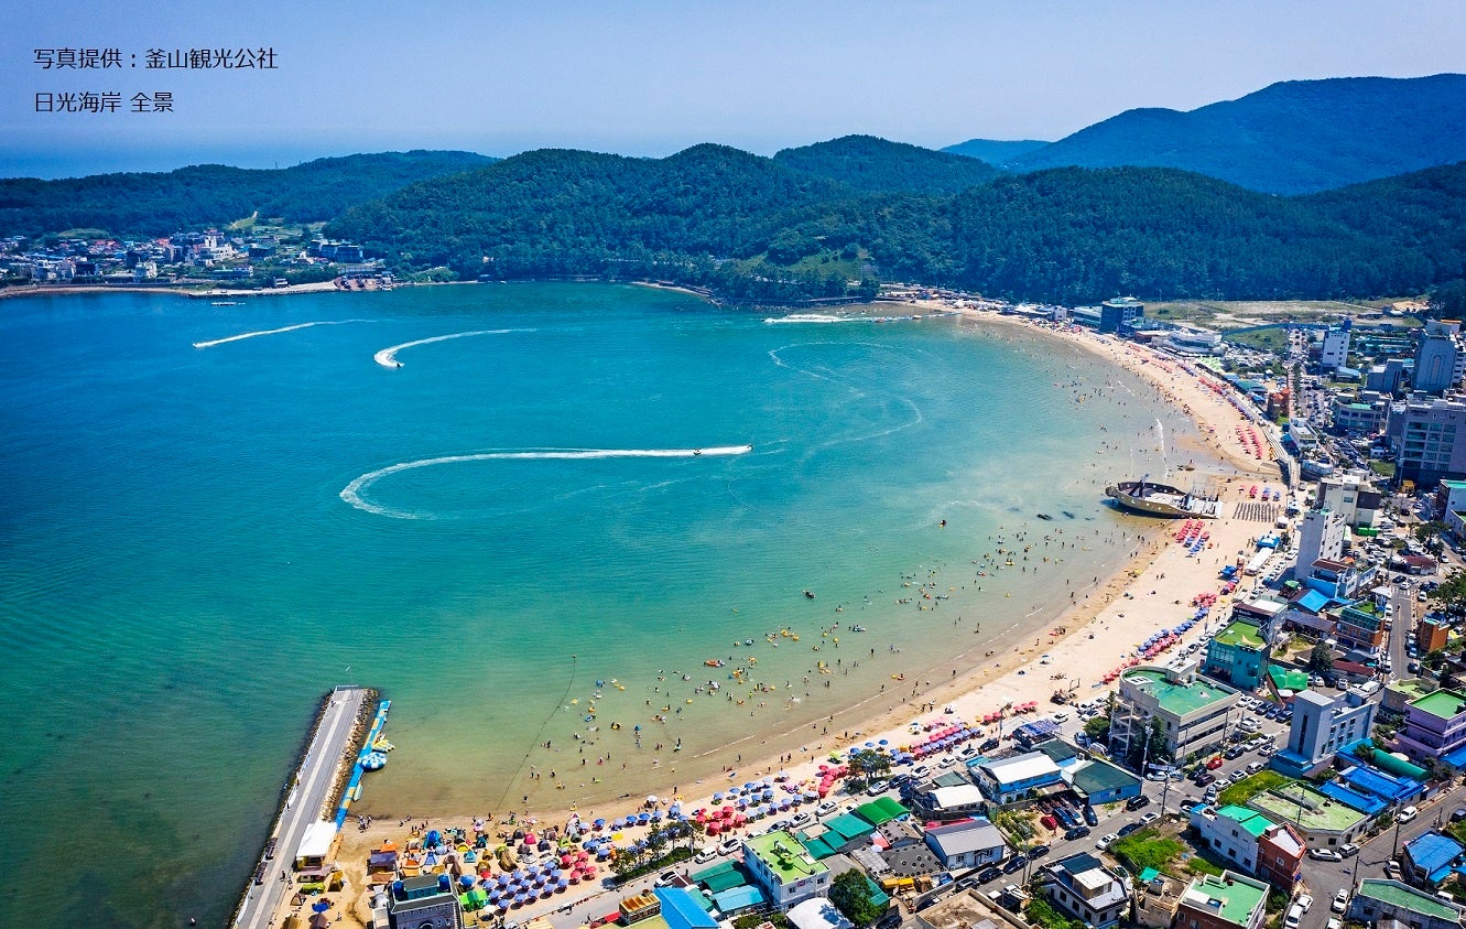
[(1120, 675), (1116, 696), (1110, 753), (1123, 759), (1139, 751), (1151, 732), (1151, 719), (1158, 719), (1165, 753), (1176, 760), (1220, 748), (1240, 697), (1226, 684), (1198, 678), (1195, 662), (1130, 668)]

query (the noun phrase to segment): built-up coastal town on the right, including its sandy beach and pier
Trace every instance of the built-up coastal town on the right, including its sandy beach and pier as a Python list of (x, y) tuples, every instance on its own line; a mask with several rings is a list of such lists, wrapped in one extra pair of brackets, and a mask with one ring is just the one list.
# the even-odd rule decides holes
[(1460, 323), (1410, 305), (1215, 330), (1133, 298), (887, 298), (1108, 357), (1198, 420), (1214, 465), (1116, 476), (1116, 506), (1179, 509), (1047, 641), (715, 784), (617, 809), (366, 815), (369, 772), (403, 762), (388, 703), (364, 704), (347, 748), (306, 754), (296, 781), (340, 756), (336, 788), (293, 848), (271, 838), (236, 922), (1462, 925)]

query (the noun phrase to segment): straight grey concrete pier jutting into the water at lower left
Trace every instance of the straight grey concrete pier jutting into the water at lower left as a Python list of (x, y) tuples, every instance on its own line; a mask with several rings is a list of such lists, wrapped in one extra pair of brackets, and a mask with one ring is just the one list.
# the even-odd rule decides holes
[[(296, 772), (295, 785), (286, 800), (280, 825), (276, 829), (274, 859), (265, 861), (265, 881), (257, 885), (249, 879), (249, 892), (239, 908), (235, 925), (240, 929), (270, 929), (281, 898), (295, 886), (292, 867), (295, 853), (301, 847), (305, 828), (321, 819), (321, 804), (331, 790), (337, 763), (352, 737), (352, 725), (361, 712), (366, 691), (361, 687), (340, 687), (331, 691), (331, 700), (315, 729), (311, 747)], [(280, 879), (284, 872), (286, 879)]]

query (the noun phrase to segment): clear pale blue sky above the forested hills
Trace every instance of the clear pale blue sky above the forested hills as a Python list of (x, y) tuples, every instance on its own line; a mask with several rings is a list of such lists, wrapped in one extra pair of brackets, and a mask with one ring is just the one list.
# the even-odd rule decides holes
[[(279, 68), (144, 68), (150, 48), (242, 45), (274, 48)], [(43, 70), (35, 48), (119, 48), (125, 68)], [(852, 132), (1056, 139), (1275, 81), (1466, 70), (1463, 50), (1466, 0), (12, 0), (0, 175), (403, 148), (771, 154)], [(174, 112), (35, 112), (65, 91), (169, 91)]]

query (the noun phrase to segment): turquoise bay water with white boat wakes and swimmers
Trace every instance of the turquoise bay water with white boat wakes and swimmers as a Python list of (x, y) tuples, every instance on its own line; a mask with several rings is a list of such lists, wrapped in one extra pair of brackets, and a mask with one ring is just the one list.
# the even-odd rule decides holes
[[(339, 682), (393, 699), (383, 816), (817, 743), (1113, 568), (1102, 487), (1158, 470), (1158, 418), (1189, 430), (1025, 332), (630, 286), (0, 302), (0, 925), (223, 923)], [(1032, 561), (978, 577), (1019, 531)]]

